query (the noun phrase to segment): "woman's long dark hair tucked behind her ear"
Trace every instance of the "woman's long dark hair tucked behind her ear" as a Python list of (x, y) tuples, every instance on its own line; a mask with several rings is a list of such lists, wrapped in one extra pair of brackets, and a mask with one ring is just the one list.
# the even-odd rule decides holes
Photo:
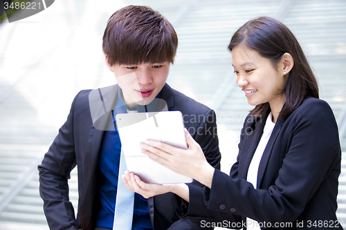
[[(282, 92), (286, 95), (286, 102), (280, 117), (284, 119), (289, 117), (308, 96), (319, 98), (316, 77), (313, 75), (307, 57), (291, 30), (280, 21), (271, 17), (259, 17), (246, 22), (235, 32), (228, 49), (232, 52), (233, 48), (239, 45), (248, 46), (262, 57), (270, 59), (275, 68), (285, 52), (289, 52), (293, 57), (294, 66)], [(262, 116), (268, 106), (268, 102), (259, 104), (251, 113)]]

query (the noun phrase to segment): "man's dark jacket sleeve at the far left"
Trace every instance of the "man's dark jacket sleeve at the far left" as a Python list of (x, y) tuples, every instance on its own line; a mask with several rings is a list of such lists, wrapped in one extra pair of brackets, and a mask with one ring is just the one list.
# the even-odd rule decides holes
[(68, 179), (76, 165), (73, 137), (75, 101), (67, 121), (44, 155), (39, 170), (39, 193), (44, 200), (44, 213), (50, 229), (78, 229), (72, 203), (69, 201)]

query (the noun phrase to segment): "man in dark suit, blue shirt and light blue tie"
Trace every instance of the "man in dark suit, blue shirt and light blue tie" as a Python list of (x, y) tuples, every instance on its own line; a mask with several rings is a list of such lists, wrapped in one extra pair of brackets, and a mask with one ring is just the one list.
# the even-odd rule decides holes
[[(185, 128), (201, 145), (208, 162), (219, 169), (214, 111), (165, 83), (177, 45), (172, 24), (149, 7), (127, 6), (111, 16), (102, 48), (118, 84), (78, 93), (67, 121), (38, 167), (40, 194), (51, 229), (116, 227), (121, 143), (112, 117), (132, 110), (161, 111), (162, 103), (154, 99), (164, 101), (162, 107), (169, 111), (183, 113)], [(67, 184), (76, 165), (77, 219)], [(131, 229), (169, 229), (172, 224), (170, 229), (198, 229), (199, 218), (182, 218), (185, 206), (185, 201), (173, 193), (148, 200), (136, 194)]]

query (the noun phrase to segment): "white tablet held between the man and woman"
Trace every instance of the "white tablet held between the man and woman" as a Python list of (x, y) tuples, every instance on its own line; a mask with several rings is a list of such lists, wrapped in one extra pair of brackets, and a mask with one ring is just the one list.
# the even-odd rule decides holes
[(140, 152), (140, 142), (156, 140), (186, 149), (183, 115), (180, 111), (119, 113), (116, 124), (125, 155), (127, 171), (146, 183), (190, 183), (191, 178), (174, 173)]

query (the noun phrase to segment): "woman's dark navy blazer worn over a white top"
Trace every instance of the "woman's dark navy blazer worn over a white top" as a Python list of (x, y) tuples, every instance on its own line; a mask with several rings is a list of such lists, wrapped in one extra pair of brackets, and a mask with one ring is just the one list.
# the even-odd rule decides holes
[(229, 176), (215, 170), (211, 189), (190, 186), (188, 215), (212, 216), (234, 229), (245, 227), (246, 216), (267, 229), (342, 229), (336, 218), (340, 142), (327, 102), (309, 97), (287, 119), (279, 117), (257, 189), (246, 181), (269, 112), (262, 119), (246, 117)]

